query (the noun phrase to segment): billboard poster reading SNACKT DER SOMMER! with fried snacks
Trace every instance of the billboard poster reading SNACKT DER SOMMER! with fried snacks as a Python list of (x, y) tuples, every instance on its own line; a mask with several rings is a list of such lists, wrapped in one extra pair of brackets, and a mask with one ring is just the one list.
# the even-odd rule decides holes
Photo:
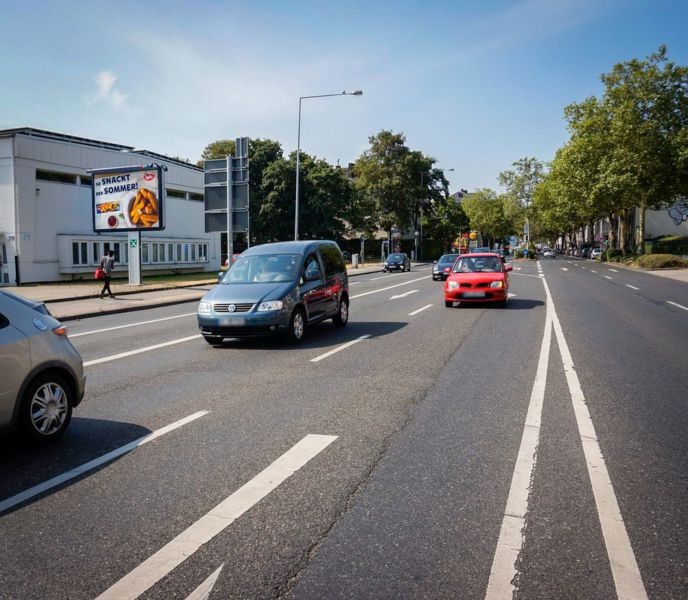
[(91, 173), (93, 231), (164, 229), (161, 167), (121, 167)]

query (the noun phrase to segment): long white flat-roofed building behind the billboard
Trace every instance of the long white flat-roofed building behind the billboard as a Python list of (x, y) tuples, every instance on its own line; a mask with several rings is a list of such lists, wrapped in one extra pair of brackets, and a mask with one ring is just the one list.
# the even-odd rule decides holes
[(0, 130), (0, 285), (92, 278), (115, 251), (125, 276), (127, 234), (94, 233), (89, 169), (165, 165), (165, 230), (141, 236), (141, 268), (217, 271), (220, 234), (205, 233), (203, 170), (148, 152), (31, 128)]

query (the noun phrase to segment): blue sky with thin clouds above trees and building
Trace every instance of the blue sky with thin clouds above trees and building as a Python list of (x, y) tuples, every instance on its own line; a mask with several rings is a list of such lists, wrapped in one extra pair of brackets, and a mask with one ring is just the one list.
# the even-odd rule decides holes
[(220, 138), (353, 162), (381, 129), (459, 188), (497, 188), (567, 139), (563, 109), (666, 44), (683, 0), (0, 1), (0, 129), (31, 126), (196, 161)]

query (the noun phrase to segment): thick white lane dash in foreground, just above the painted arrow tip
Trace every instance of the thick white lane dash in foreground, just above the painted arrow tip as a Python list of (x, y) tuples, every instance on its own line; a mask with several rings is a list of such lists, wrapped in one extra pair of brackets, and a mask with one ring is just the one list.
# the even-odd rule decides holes
[(134, 600), (286, 481), (337, 439), (309, 434), (96, 600)]

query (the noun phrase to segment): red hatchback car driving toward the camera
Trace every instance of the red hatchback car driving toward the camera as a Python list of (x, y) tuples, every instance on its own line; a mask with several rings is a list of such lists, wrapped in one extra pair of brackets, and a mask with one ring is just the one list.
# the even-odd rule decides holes
[(509, 297), (509, 271), (497, 254), (464, 254), (454, 264), (444, 282), (444, 305), (455, 302), (497, 302), (506, 306)]

